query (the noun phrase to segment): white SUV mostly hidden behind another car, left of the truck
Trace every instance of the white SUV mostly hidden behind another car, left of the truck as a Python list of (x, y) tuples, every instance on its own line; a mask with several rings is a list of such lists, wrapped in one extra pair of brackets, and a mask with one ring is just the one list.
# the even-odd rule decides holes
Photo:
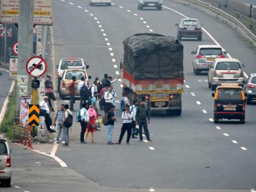
[(62, 74), (63, 71), (67, 68), (81, 68), (84, 67), (87, 69), (87, 65), (85, 63), (84, 59), (80, 58), (74, 58), (74, 57), (69, 57), (69, 58), (63, 58), (60, 60), (59, 65), (57, 65), (58, 69), (58, 92), (60, 93), (60, 80), (62, 80)]

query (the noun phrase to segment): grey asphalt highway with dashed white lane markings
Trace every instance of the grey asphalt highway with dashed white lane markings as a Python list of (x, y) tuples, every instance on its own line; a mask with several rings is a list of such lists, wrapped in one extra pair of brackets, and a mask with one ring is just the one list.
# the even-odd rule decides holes
[[(138, 10), (135, 0), (114, 0), (111, 7), (92, 7), (83, 0), (56, 0), (55, 62), (63, 57), (82, 57), (90, 65), (88, 74), (93, 79), (96, 76), (101, 79), (104, 73), (115, 77), (123, 56), (124, 38), (140, 32), (176, 36), (175, 24), (184, 16), (199, 18), (205, 32), (203, 41), (182, 41), (185, 48), (182, 116), (153, 114), (149, 126), (153, 142), (132, 139), (130, 146), (107, 145), (106, 127), (96, 132), (96, 144), (80, 144), (80, 127), (75, 124), (70, 146), (59, 146), (56, 154), (69, 168), (105, 187), (155, 191), (250, 191), (256, 187), (255, 104), (246, 106), (246, 124), (230, 121), (214, 124), (207, 74), (193, 74), (190, 52), (198, 44), (216, 43), (231, 57), (240, 59), (247, 74), (256, 72), (255, 51), (226, 24), (169, 0), (164, 2), (162, 11)], [(121, 82), (114, 84), (119, 100), (120, 85)], [(59, 100), (58, 104), (66, 102)], [(78, 103), (75, 106), (78, 109)], [(120, 127), (119, 118), (113, 141), (118, 140)]]

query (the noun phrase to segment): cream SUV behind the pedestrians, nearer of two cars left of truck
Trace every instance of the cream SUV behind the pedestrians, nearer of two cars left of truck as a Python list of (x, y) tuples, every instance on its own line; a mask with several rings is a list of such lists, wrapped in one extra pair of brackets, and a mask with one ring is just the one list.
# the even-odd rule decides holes
[(60, 80), (60, 98), (65, 99), (66, 96), (69, 96), (68, 86), (72, 80), (72, 77), (76, 77), (75, 82), (75, 96), (80, 96), (79, 92), (77, 91), (77, 84), (81, 81), (81, 77), (84, 77), (86, 82), (90, 79), (87, 75), (86, 69), (84, 67), (80, 68), (69, 68), (65, 69), (62, 74), (62, 80)]

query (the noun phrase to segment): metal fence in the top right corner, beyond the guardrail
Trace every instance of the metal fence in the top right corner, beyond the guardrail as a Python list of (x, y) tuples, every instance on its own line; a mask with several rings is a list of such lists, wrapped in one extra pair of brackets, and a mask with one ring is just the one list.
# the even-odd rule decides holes
[(235, 10), (236, 12), (243, 13), (243, 15), (249, 16), (256, 20), (256, 7), (254, 5), (245, 4), (235, 0), (207, 0), (217, 4), (219, 7), (226, 7), (228, 9)]

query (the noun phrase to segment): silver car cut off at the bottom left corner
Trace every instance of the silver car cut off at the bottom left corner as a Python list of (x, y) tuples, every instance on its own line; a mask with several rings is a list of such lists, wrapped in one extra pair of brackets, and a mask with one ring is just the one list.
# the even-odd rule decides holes
[(7, 141), (0, 138), (0, 186), (10, 187), (11, 177), (10, 149)]

